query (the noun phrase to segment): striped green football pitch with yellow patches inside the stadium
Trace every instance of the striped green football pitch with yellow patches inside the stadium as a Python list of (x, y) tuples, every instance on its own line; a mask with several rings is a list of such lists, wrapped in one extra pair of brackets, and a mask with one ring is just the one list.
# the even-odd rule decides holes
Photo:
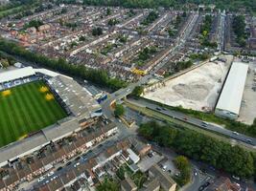
[(0, 147), (67, 117), (43, 81), (0, 92)]

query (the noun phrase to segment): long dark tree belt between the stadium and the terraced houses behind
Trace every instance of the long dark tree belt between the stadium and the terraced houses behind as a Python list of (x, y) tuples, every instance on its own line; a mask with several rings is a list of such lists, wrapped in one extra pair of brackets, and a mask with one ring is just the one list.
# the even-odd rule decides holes
[(103, 70), (88, 69), (83, 65), (74, 65), (68, 63), (63, 58), (51, 59), (42, 54), (32, 53), (25, 50), (23, 47), (20, 47), (17, 44), (3, 38), (0, 39), (0, 51), (31, 61), (39, 67), (45, 67), (63, 74), (86, 79), (100, 86), (108, 87), (112, 90), (118, 90), (127, 86), (126, 82), (118, 78), (110, 78)]

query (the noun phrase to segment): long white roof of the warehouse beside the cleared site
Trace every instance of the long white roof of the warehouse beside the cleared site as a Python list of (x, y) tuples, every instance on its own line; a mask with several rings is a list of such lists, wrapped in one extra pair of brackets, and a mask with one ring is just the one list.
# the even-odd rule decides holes
[(247, 71), (247, 64), (233, 62), (216, 109), (239, 115)]

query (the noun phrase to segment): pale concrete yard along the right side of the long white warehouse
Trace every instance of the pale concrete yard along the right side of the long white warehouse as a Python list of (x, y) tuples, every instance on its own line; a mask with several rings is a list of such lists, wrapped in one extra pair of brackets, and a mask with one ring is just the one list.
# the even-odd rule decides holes
[[(254, 90), (253, 90), (254, 88)], [(256, 61), (249, 63), (249, 73), (247, 74), (243, 101), (241, 104), (239, 121), (252, 124), (256, 117)]]

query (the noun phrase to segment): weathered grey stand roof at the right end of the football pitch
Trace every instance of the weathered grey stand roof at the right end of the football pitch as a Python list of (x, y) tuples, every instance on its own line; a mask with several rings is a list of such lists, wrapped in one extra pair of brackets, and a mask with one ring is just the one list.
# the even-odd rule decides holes
[(89, 118), (101, 108), (86, 89), (75, 80), (58, 75), (49, 79), (48, 82), (75, 117)]

